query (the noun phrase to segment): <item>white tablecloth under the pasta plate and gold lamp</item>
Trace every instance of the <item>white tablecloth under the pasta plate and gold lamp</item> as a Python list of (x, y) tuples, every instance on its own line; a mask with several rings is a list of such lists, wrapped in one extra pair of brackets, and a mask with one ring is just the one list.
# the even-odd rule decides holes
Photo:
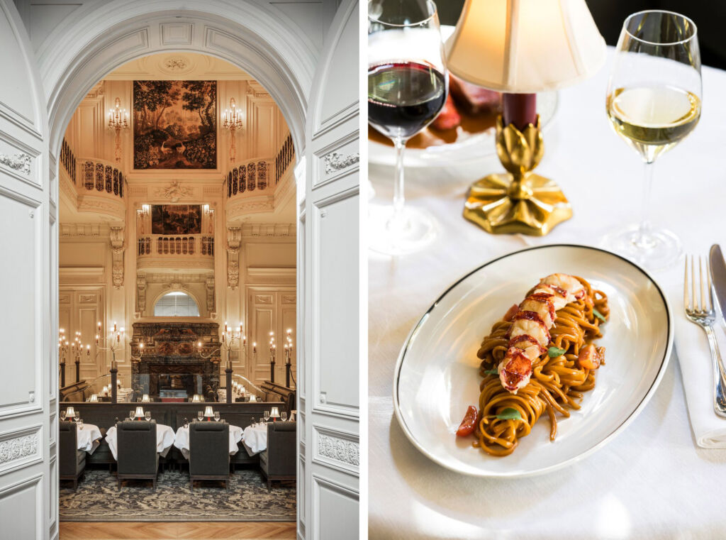
[[(537, 172), (556, 180), (574, 217), (544, 238), (489, 235), (462, 218), (470, 182), (490, 166), (408, 169), (407, 204), (428, 209), (441, 233), (428, 249), (370, 255), (369, 535), (371, 539), (717, 539), (726, 535), (726, 450), (693, 439), (677, 355), (640, 416), (607, 446), (564, 470), (518, 480), (482, 480), (439, 467), (414, 448), (393, 417), (393, 367), (401, 344), (451, 283), (489, 259), (526, 245), (587, 243), (640, 219), (643, 165), (605, 117), (612, 61), (596, 76), (560, 91)], [(726, 73), (703, 68), (703, 116), (693, 134), (658, 158), (653, 221), (685, 251), (726, 247)], [(377, 201), (391, 196), (393, 173), (370, 167)], [(655, 273), (682, 294), (682, 267)], [(674, 316), (676, 299), (670, 300)], [(720, 330), (719, 330), (720, 332)], [(677, 336), (676, 336), (677, 339)], [(705, 335), (703, 336), (705, 340)], [(722, 351), (726, 352), (726, 351)], [(698, 359), (710, 363), (708, 356)], [(710, 364), (709, 364), (710, 365)], [(709, 371), (710, 373), (710, 371)], [(711, 392), (710, 381), (703, 392)], [(726, 420), (724, 421), (726, 422)]]

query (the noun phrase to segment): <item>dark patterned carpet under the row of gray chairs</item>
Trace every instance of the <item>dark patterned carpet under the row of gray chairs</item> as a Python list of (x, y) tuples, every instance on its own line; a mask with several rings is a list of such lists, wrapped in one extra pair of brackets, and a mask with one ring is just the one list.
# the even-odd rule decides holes
[(86, 479), (73, 491), (60, 485), (61, 521), (295, 521), (295, 485), (267, 485), (258, 470), (237, 470), (224, 484), (197, 481), (189, 491), (187, 472), (159, 473), (156, 491), (151, 482), (126, 481), (118, 491), (115, 475), (86, 470)]

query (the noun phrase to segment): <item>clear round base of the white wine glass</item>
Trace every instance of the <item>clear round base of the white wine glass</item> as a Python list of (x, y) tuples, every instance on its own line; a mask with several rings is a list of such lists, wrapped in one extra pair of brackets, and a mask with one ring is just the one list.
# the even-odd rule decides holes
[(605, 235), (600, 245), (627, 257), (649, 272), (669, 269), (683, 253), (680, 239), (671, 231), (651, 230), (641, 238), (638, 225), (629, 225)]

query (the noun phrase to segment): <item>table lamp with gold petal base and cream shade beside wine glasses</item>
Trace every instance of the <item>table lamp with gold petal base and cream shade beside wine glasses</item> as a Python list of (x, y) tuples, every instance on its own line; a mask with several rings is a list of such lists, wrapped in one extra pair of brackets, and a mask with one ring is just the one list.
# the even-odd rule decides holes
[(543, 236), (572, 217), (559, 186), (531, 172), (544, 152), (534, 92), (582, 81), (604, 60), (605, 40), (585, 0), (466, 1), (446, 41), (446, 65), (503, 92), (497, 156), (507, 170), (471, 186), (466, 219), (489, 233)]

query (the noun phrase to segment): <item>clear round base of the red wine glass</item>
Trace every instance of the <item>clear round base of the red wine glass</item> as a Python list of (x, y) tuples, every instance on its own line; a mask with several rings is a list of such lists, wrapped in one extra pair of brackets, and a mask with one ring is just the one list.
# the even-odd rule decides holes
[(425, 248), (436, 238), (434, 219), (423, 210), (404, 206), (396, 217), (393, 206), (368, 205), (368, 247), (386, 255)]

